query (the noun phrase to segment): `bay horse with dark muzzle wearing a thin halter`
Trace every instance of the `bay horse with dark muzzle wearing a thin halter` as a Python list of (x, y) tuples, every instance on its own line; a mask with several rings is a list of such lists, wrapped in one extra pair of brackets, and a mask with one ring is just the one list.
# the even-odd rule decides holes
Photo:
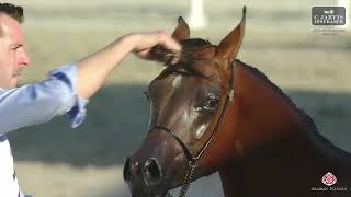
[(166, 68), (146, 91), (146, 138), (125, 162), (132, 197), (171, 196), (177, 187), (185, 196), (191, 182), (215, 172), (225, 197), (351, 196), (351, 154), (264, 73), (236, 59), (245, 23), (246, 9), (213, 45), (190, 38), (180, 16), (172, 34), (183, 46), (180, 61), (169, 65), (171, 53), (155, 50)]

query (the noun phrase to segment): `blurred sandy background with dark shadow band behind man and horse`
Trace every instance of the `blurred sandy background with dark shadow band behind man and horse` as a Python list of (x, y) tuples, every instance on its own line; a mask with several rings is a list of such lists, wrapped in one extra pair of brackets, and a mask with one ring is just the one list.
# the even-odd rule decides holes
[[(25, 9), (23, 30), (32, 57), (22, 84), (93, 53), (123, 34), (166, 30), (190, 15), (190, 0), (8, 1)], [(344, 2), (349, 2), (344, 0)], [(247, 28), (238, 58), (263, 71), (316, 121), (319, 131), (351, 152), (351, 30), (322, 35), (312, 7), (337, 0), (203, 1), (206, 26), (193, 37), (213, 44), (239, 22)], [(350, 8), (350, 4), (349, 4)], [(348, 18), (347, 20), (351, 20)], [(10, 135), (22, 189), (34, 197), (128, 197), (122, 167), (138, 149), (148, 123), (143, 94), (162, 67), (128, 56), (90, 101), (88, 118), (70, 129), (67, 117)], [(223, 196), (218, 176), (191, 186), (189, 196)]]

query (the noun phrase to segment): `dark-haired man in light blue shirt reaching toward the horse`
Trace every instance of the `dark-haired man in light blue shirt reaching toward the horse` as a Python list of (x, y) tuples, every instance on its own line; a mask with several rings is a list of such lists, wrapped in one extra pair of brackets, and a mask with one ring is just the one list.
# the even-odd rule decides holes
[(150, 48), (160, 45), (174, 51), (174, 63), (181, 50), (163, 32), (127, 34), (75, 63), (52, 71), (39, 83), (15, 88), (22, 70), (30, 63), (22, 21), (21, 7), (0, 3), (0, 197), (25, 196), (16, 181), (7, 132), (63, 114), (68, 114), (71, 126), (77, 127), (84, 119), (87, 101), (127, 54), (149, 59)]

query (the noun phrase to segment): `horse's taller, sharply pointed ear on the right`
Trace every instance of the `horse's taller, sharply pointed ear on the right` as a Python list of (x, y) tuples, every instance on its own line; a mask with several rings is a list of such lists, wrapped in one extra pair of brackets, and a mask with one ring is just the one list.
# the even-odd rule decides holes
[(242, 9), (242, 18), (236, 28), (234, 28), (216, 48), (216, 56), (220, 59), (230, 59), (233, 61), (241, 46), (246, 21), (246, 7)]

